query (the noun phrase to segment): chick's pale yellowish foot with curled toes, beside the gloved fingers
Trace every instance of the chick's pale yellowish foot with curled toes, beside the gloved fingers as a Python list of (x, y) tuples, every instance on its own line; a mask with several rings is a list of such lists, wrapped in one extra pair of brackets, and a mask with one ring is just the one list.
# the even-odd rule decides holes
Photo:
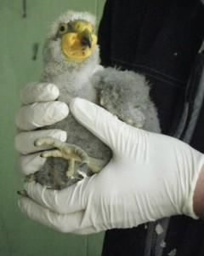
[(68, 170), (66, 172), (67, 177), (72, 177), (75, 172), (75, 162), (81, 162), (82, 164), (88, 164), (88, 154), (77, 147), (74, 144), (62, 143), (53, 137), (38, 138), (34, 142), (35, 146), (39, 147), (47, 145), (56, 149), (43, 151), (42, 157), (62, 157), (68, 161)]

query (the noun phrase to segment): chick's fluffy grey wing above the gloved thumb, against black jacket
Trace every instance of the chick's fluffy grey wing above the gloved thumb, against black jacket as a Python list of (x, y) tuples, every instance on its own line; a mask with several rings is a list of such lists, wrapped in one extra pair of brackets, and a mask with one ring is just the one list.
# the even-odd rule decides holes
[(150, 85), (143, 75), (109, 67), (95, 73), (93, 83), (101, 106), (109, 112), (129, 125), (161, 132)]

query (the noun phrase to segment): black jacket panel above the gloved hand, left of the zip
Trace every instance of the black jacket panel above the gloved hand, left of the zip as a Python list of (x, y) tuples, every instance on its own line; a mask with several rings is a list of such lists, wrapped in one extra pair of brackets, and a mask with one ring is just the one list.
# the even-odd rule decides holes
[(173, 135), (185, 90), (204, 38), (200, 0), (107, 0), (99, 26), (105, 66), (143, 73), (162, 133)]

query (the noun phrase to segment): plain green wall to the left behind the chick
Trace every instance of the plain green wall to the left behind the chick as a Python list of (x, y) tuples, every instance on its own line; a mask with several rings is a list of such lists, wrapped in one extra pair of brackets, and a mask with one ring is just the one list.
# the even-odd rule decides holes
[[(97, 256), (103, 233), (92, 236), (61, 234), (27, 218), (20, 212), (16, 191), (22, 178), (14, 172), (14, 114), (20, 108), (20, 89), (37, 81), (42, 73), (42, 45), (50, 22), (68, 9), (102, 13), (105, 0), (0, 1), (0, 255), (1, 256)], [(37, 59), (33, 45), (39, 44)]]

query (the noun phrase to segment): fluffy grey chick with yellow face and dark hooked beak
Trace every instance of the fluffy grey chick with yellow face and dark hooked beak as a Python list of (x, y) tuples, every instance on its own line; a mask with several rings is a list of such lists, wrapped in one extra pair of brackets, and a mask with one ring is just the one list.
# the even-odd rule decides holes
[[(129, 125), (160, 132), (156, 108), (150, 101), (150, 86), (139, 73), (99, 66), (99, 46), (94, 34), (95, 17), (87, 12), (68, 11), (51, 28), (43, 50), (43, 82), (59, 87), (59, 101), (67, 105), (78, 96), (94, 102)], [(67, 142), (51, 137), (37, 138), (36, 146), (48, 158), (39, 172), (28, 177), (51, 189), (63, 189), (83, 177), (99, 172), (109, 160), (111, 149), (80, 125), (69, 113), (48, 129), (67, 132)]]

